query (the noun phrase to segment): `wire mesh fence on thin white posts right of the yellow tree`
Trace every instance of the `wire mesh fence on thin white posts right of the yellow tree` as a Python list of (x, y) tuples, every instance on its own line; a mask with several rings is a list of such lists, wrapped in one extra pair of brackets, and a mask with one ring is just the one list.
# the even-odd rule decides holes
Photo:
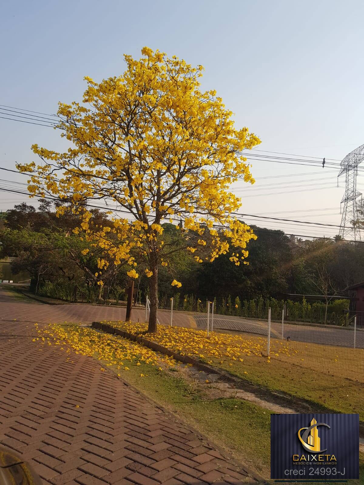
[[(264, 354), (272, 363), (277, 360), (278, 364), (279, 361), (282, 372), (287, 371), (287, 378), (299, 381), (302, 372), (304, 375), (312, 373), (313, 381), (309, 385), (311, 390), (329, 389), (332, 381), (332, 396), (335, 395), (335, 388), (341, 386), (344, 389), (349, 383), (356, 392), (364, 392), (364, 315), (358, 318), (355, 312), (343, 311), (344, 323), (341, 325), (332, 324), (330, 321), (326, 324), (299, 321), (297, 314), (295, 321), (290, 321), (286, 319), (287, 311), (282, 304), (280, 308), (270, 308), (271, 320), (268, 326), (266, 306), (257, 308), (253, 313), (254, 317), (245, 317), (241, 316), (243, 311), (239, 312), (239, 309), (227, 311), (227, 305), (223, 314), (222, 306), (215, 305), (216, 300), (211, 302), (208, 312), (209, 303), (206, 301), (190, 300), (187, 305), (184, 300), (181, 302), (177, 299), (176, 304), (174, 297), (173, 313), (171, 314), (169, 298), (168, 305), (165, 304), (165, 308), (159, 310), (158, 315), (161, 323), (196, 328), (206, 332), (206, 338), (208, 330), (210, 337), (212, 332), (244, 336), (251, 341), (252, 347), (257, 345), (260, 349), (266, 349)], [(186, 307), (192, 307), (192, 311), (185, 310)], [(316, 382), (316, 379), (324, 379), (325, 382)], [(345, 397), (349, 399), (350, 394)]]

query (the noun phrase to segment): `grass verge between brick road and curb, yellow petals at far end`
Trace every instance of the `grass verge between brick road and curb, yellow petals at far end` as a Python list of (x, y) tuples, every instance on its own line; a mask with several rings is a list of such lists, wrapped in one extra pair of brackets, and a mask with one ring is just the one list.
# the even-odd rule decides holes
[[(156, 365), (146, 364), (139, 358), (138, 354), (142, 356), (147, 349), (136, 342), (130, 342), (121, 337), (104, 334), (90, 328), (83, 328), (82, 331), (75, 332), (75, 328), (79, 329), (77, 325), (58, 326), (60, 331), (56, 339), (67, 340), (68, 335), (68, 342), (71, 345), (73, 344), (73, 348), (78, 352), (83, 355), (94, 353), (95, 358), (102, 356), (103, 359), (107, 359), (100, 360), (100, 364), (104, 365), (106, 369), (115, 372), (116, 375), (120, 374), (123, 380), (192, 425), (248, 468), (253, 469), (265, 479), (269, 477), (269, 410), (240, 399), (215, 399), (213, 398), (214, 395), (208, 392), (209, 386), (207, 384), (197, 386), (195, 383), (185, 380), (183, 378), (185, 374), (179, 371), (179, 365), (169, 367), (165, 360), (162, 362), (160, 359), (162, 370), (159, 370), (158, 360), (156, 359), (150, 360)], [(55, 333), (54, 329), (51, 330), (51, 333)], [(127, 350), (122, 352), (124, 356), (118, 358), (116, 353), (123, 347), (126, 347)], [(152, 351), (148, 349), (148, 352)], [(136, 358), (128, 360), (125, 354), (136, 356)], [(158, 356), (158, 354), (155, 355)], [(129, 370), (124, 370), (126, 365), (121, 365), (120, 361), (122, 360), (127, 364)], [(254, 361), (251, 360), (251, 362)], [(265, 363), (265, 368), (270, 369), (272, 375), (279, 374), (279, 369), (272, 372), (275, 369), (273, 363)], [(176, 369), (178, 372), (176, 372)], [(252, 370), (253, 367), (249, 368), (249, 379), (252, 379), (250, 375), (250, 373), (253, 375)], [(259, 374), (259, 369), (257, 369), (256, 374), (254, 374), (255, 379), (259, 378)], [(275, 378), (277, 379), (277, 376)], [(261, 377), (261, 379), (263, 378)], [(268, 386), (266, 373), (264, 379), (265, 385)], [(272, 379), (274, 378), (272, 377)], [(271, 385), (275, 385), (274, 380)], [(301, 383), (301, 385), (303, 384)], [(361, 479), (351, 481), (350, 484), (352, 485), (364, 483), (363, 453), (360, 454), (360, 460)]]

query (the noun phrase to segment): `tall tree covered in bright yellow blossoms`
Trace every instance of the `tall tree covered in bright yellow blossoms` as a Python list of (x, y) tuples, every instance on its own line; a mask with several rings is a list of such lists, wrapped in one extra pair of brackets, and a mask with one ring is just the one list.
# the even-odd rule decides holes
[[(238, 153), (260, 143), (247, 128), (237, 130), (232, 112), (215, 91), (201, 92), (196, 68), (175, 56), (142, 49), (125, 55), (122, 76), (100, 83), (86, 77), (83, 103), (59, 104), (61, 136), (73, 146), (65, 153), (33, 145), (42, 164), (18, 164), (32, 174), (33, 195), (56, 195), (58, 213), (80, 214), (80, 228), (128, 275), (150, 278), (149, 331), (156, 330), (158, 268), (176, 251), (194, 253), (198, 262), (230, 252), (239, 264), (248, 255), (252, 230), (230, 214), (241, 206), (229, 192), (239, 179), (253, 183)], [(113, 210), (112, 226), (91, 227), (90, 200)], [(116, 204), (116, 207), (115, 207)], [(118, 214), (118, 213), (117, 213)], [(178, 236), (164, 238), (163, 223), (178, 225)], [(100, 272), (107, 259), (99, 259)], [(175, 279), (173, 286), (180, 287)]]

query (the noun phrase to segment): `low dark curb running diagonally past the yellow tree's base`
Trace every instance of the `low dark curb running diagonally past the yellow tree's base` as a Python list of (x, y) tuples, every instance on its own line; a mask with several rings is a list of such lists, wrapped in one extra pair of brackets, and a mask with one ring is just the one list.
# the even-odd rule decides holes
[[(148, 339), (144, 339), (143, 337), (138, 337), (137, 335), (126, 332), (125, 330), (115, 328), (112, 325), (108, 325), (107, 323), (92, 322), (91, 326), (92, 328), (101, 330), (102, 332), (118, 335), (120, 337), (124, 337), (125, 339), (132, 340), (133, 342), (140, 343), (141, 345), (144, 345), (145, 347), (148, 347), (149, 349), (154, 350), (155, 352), (160, 352), (161, 354), (164, 354), (166, 356), (173, 357), (175, 360), (178, 360), (179, 362), (182, 362), (184, 364), (192, 364), (200, 371), (208, 372), (209, 374), (217, 374), (219, 376), (219, 379), (225, 382), (230, 382), (234, 384), (237, 388), (240, 388), (240, 389), (244, 388), (245, 390), (250, 391), (253, 394), (256, 394), (265, 399), (266, 399), (266, 394), (268, 392), (273, 397), (273, 400), (275, 400), (276, 403), (278, 402), (278, 404), (280, 404), (280, 402), (283, 402), (284, 404), (289, 404), (293, 409), (295, 408), (302, 409), (303, 407), (304, 409), (306, 409), (305, 411), (306, 413), (311, 412), (312, 405), (314, 405), (314, 403), (300, 401), (296, 399), (295, 396), (290, 396), (283, 393), (260, 388), (259, 386), (250, 384), (249, 382), (245, 382), (244, 387), (242, 387), (242, 379), (231, 375), (229, 372), (221, 372), (218, 369), (215, 369), (214, 367), (211, 367), (206, 364), (202, 364), (201, 362), (199, 362), (199, 360), (196, 360), (190, 356), (182, 356), (181, 354), (178, 354), (176, 352), (173, 352), (167, 349), (163, 345), (160, 345), (156, 342), (152, 342), (151, 340), (148, 340)], [(299, 411), (299, 412), (302, 412), (302, 411)], [(325, 412), (325, 410), (321, 412)], [(330, 413), (332, 412), (332, 409), (327, 408), (326, 412)], [(362, 422), (359, 422), (359, 435), (360, 437), (364, 437), (364, 423)]]

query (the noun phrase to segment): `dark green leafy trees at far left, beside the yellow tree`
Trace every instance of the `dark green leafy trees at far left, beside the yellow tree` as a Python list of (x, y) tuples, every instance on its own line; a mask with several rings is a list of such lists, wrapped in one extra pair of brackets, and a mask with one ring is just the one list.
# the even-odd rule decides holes
[[(0, 255), (16, 258), (11, 263), (12, 272), (28, 272), (31, 288), (35, 291), (38, 291), (39, 283), (51, 282), (64, 286), (69, 294), (72, 286), (75, 299), (77, 289), (84, 292), (85, 287), (95, 287), (101, 299), (116, 282), (125, 284), (126, 272), (125, 276), (119, 275), (124, 268), (115, 265), (112, 259), (104, 272), (98, 270), (98, 259), (103, 251), (96, 243), (92, 246), (92, 241), (88, 241), (82, 232), (73, 233), (80, 224), (73, 214), (66, 213), (57, 218), (48, 204), (41, 204), (39, 210), (20, 204), (4, 214)], [(93, 210), (90, 225), (94, 227), (100, 222), (109, 223), (102, 212)]]

